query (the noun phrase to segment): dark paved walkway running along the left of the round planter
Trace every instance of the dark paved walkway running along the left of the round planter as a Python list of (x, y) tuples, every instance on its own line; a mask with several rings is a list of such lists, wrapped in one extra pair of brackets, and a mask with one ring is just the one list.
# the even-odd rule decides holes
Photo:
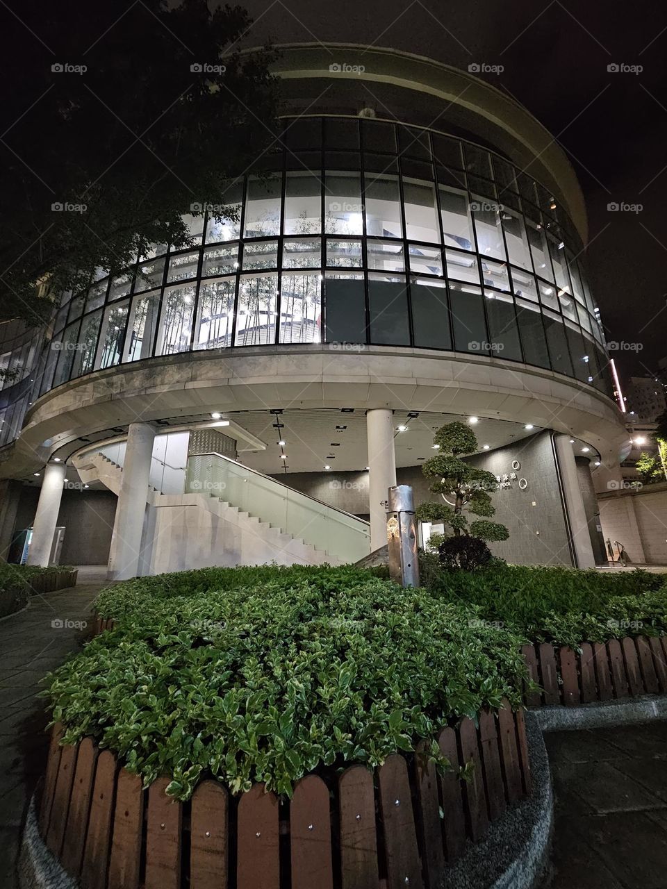
[(76, 587), (34, 596), (28, 609), (0, 621), (0, 886), (18, 885), (14, 874), (20, 829), (36, 781), (44, 773), (48, 717), (40, 679), (76, 651), (91, 621), (91, 603), (106, 585), (106, 568), (79, 569)]

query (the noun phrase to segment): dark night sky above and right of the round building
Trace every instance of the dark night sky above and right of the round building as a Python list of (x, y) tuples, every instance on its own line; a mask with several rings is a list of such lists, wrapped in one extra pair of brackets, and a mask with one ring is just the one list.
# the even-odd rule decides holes
[[(266, 40), (392, 46), (482, 75), (567, 150), (589, 213), (588, 268), (622, 380), (667, 356), (667, 4), (247, 0)], [(609, 64), (642, 66), (609, 72)], [(641, 204), (609, 212), (607, 204)]]

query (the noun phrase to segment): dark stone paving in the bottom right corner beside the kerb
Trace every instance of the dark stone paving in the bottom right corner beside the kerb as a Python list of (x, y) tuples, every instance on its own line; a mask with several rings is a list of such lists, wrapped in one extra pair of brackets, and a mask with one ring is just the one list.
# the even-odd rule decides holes
[(544, 741), (556, 794), (550, 889), (666, 889), (667, 722)]

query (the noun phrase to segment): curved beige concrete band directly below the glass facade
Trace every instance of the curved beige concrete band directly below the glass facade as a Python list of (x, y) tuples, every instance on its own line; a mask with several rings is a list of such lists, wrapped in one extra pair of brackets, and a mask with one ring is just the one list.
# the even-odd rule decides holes
[(475, 414), (552, 428), (617, 460), (627, 438), (615, 403), (558, 373), (496, 357), (415, 348), (256, 346), (165, 356), (109, 368), (39, 398), (0, 477), (40, 469), (81, 436), (193, 414), (354, 407)]

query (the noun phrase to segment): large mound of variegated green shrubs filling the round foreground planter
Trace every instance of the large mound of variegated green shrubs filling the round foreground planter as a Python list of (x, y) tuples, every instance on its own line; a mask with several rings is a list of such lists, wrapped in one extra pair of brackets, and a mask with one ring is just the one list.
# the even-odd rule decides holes
[(164, 575), (98, 605), (120, 626), (51, 674), (53, 718), (147, 783), (172, 775), (183, 799), (206, 774), (291, 794), (304, 773), (377, 765), (503, 697), (518, 706), (526, 677), (519, 638), (474, 606), (352, 568)]

